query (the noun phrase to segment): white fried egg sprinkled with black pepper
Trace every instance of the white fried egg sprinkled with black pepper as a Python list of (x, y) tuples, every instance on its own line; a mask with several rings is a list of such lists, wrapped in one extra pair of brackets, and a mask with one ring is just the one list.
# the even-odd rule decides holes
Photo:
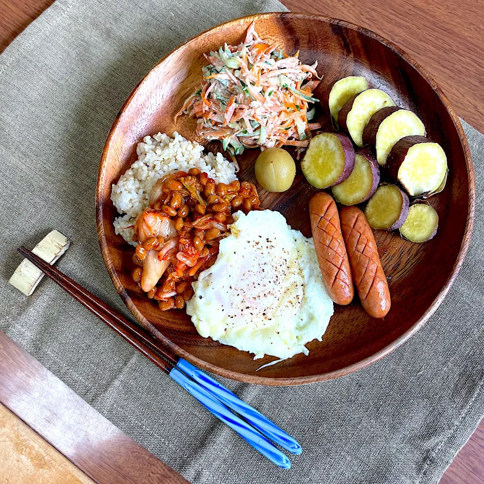
[(201, 336), (255, 354), (308, 354), (333, 314), (313, 239), (271, 210), (234, 214), (215, 264), (193, 283), (187, 303)]

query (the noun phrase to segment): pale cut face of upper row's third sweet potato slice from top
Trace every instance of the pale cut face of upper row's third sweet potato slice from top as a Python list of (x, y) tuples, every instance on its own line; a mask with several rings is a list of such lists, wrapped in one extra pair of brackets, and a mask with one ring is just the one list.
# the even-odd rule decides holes
[(375, 137), (375, 150), (377, 161), (384, 165), (387, 157), (396, 144), (405, 136), (425, 136), (425, 126), (420, 119), (412, 112), (406, 109), (399, 109), (386, 117), (378, 128)]

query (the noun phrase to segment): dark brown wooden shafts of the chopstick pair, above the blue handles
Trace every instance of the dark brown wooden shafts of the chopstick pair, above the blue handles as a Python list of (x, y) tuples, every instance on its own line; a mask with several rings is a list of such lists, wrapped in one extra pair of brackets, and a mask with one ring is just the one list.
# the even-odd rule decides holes
[[(91, 313), (97, 316), (101, 321), (107, 324), (110, 328), (118, 334), (126, 338), (133, 346), (136, 347), (142, 354), (150, 359), (156, 366), (161, 368), (165, 373), (169, 374), (172, 368), (178, 361), (178, 356), (169, 349), (161, 345), (153, 336), (147, 333), (142, 328), (136, 326), (131, 321), (128, 321), (122, 315), (112, 310), (105, 302), (91, 294), (88, 290), (74, 282), (70, 277), (59, 271), (49, 263), (45, 262), (40, 257), (25, 247), (18, 249), (26, 259), (35, 264), (47, 277), (55, 281), (66, 292), (73, 296), (83, 306), (85, 306)], [(139, 341), (139, 339), (141, 341)], [(160, 357), (159, 352), (168, 361)]]

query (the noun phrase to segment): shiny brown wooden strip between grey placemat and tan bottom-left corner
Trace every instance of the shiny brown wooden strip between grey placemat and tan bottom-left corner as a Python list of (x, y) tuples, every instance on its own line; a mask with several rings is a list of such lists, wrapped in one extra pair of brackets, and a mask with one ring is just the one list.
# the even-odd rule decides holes
[(187, 484), (0, 331), (0, 403), (102, 484)]

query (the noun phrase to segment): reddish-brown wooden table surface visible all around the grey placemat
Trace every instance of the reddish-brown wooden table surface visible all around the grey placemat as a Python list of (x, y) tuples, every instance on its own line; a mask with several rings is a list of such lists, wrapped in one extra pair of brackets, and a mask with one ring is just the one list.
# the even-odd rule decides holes
[[(51, 3), (0, 0), (0, 51)], [(354, 22), (395, 42), (434, 77), (457, 114), (484, 132), (484, 5), (480, 0), (283, 3), (292, 11)], [(0, 403), (96, 482), (186, 482), (113, 427), (1, 331), (0, 354)], [(484, 420), (447, 469), (441, 484), (484, 484)]]

